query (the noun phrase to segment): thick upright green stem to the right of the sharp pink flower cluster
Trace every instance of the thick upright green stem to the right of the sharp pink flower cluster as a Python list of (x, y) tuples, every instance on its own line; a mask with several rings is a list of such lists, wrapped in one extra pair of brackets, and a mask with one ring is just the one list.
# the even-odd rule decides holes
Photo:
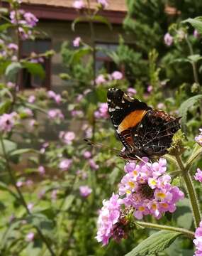
[(195, 224), (196, 228), (198, 228), (199, 223), (201, 221), (201, 213), (200, 213), (200, 206), (199, 206), (199, 203), (198, 203), (196, 191), (194, 189), (193, 182), (191, 180), (191, 176), (190, 176), (189, 172), (186, 170), (186, 168), (184, 167), (184, 164), (181, 161), (181, 157), (179, 156), (179, 154), (176, 154), (175, 157), (176, 157), (177, 163), (179, 164), (179, 168), (182, 171), (182, 176), (184, 178), (184, 183), (186, 184), (186, 191), (187, 191), (188, 196), (189, 196), (191, 210), (192, 210), (192, 213), (193, 213), (194, 224)]

